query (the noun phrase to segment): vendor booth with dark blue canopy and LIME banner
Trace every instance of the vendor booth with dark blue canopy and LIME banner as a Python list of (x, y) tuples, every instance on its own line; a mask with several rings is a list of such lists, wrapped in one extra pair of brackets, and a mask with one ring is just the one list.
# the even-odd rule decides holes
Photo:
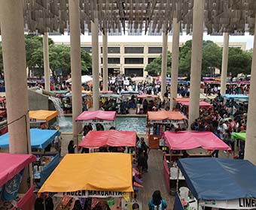
[(173, 209), (256, 208), (256, 166), (248, 160), (184, 158), (177, 164), (190, 193), (177, 195)]

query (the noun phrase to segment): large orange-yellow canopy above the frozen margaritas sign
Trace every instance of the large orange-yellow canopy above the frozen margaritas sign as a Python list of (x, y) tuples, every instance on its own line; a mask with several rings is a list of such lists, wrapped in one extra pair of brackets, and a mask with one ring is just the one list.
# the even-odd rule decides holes
[(66, 154), (44, 182), (38, 195), (79, 190), (130, 193), (133, 192), (132, 172), (131, 154)]

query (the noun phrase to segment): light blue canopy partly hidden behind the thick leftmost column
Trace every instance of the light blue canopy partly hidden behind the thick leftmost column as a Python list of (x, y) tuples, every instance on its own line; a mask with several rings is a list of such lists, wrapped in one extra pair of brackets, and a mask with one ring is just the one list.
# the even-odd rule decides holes
[[(59, 136), (59, 130), (41, 130), (38, 128), (30, 129), (30, 139), (32, 148), (44, 149), (50, 142), (53, 142), (55, 136)], [(9, 133), (0, 136), (0, 148), (9, 147)]]

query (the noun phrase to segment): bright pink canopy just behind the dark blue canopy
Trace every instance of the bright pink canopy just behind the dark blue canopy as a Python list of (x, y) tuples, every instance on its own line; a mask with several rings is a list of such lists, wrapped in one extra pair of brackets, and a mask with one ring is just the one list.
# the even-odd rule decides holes
[(205, 148), (208, 150), (231, 150), (231, 148), (215, 136), (214, 133), (208, 131), (166, 131), (163, 134), (166, 139), (166, 145), (172, 150)]

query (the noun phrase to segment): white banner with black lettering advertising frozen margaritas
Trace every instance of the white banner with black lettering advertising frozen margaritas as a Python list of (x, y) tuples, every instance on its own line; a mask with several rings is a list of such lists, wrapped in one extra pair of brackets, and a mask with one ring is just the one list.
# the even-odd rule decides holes
[(78, 190), (74, 192), (57, 193), (55, 196), (72, 196), (72, 197), (122, 197), (123, 192), (98, 191), (98, 190)]

